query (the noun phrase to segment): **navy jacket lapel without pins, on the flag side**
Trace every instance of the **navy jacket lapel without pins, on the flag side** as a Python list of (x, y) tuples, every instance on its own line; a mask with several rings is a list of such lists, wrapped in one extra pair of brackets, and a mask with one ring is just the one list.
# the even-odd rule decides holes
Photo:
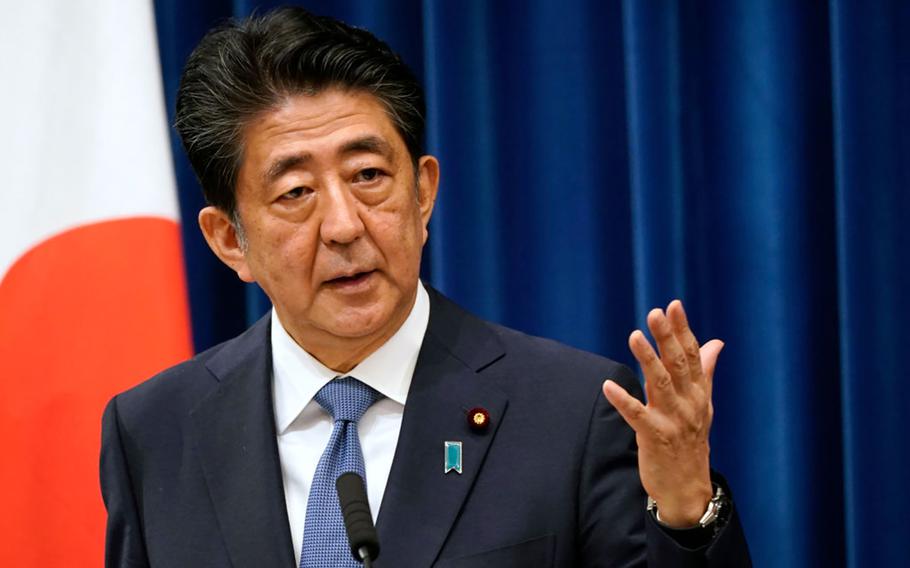
[(193, 411), (196, 449), (236, 568), (294, 566), (278, 459), (268, 317), (208, 363), (218, 388)]

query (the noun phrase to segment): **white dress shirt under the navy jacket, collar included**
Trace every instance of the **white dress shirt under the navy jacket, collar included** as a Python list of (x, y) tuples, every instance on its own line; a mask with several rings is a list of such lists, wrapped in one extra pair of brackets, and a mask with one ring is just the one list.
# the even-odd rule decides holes
[(367, 497), (375, 521), (429, 319), (430, 298), (423, 284), (418, 283), (411, 313), (395, 335), (349, 373), (340, 374), (297, 345), (272, 309), (272, 404), (284, 498), (298, 563), (310, 485), (333, 425), (331, 415), (313, 397), (326, 383), (341, 376), (355, 377), (385, 395), (366, 411), (357, 425), (366, 466)]

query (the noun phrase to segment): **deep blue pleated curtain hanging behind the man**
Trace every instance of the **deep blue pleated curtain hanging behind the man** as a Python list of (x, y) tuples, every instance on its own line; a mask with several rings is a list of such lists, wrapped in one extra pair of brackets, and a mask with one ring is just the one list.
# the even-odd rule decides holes
[[(910, 4), (301, 4), (423, 78), (442, 162), (424, 278), (480, 315), (632, 363), (652, 306), (727, 343), (713, 463), (758, 566), (890, 566), (910, 535)], [(183, 61), (244, 1), (156, 3)], [(208, 251), (174, 142), (194, 338), (268, 307)]]

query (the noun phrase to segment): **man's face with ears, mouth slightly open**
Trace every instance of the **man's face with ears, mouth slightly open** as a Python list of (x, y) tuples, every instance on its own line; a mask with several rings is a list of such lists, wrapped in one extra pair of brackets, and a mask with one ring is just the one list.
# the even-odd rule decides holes
[(413, 305), (437, 182), (432, 157), (415, 174), (372, 95), (288, 98), (245, 130), (236, 196), (246, 242), (231, 243), (224, 229), (219, 256), (262, 286), (304, 348), (375, 349)]

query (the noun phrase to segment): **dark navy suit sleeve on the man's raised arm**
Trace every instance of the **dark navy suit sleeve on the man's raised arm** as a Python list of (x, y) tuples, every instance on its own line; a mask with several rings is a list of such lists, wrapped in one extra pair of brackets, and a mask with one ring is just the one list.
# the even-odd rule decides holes
[[(607, 376), (643, 400), (641, 385), (630, 369), (618, 365)], [(709, 544), (687, 548), (654, 521), (645, 510), (646, 503), (647, 495), (638, 476), (635, 432), (598, 393), (579, 481), (580, 565), (624, 568), (752, 565), (735, 507), (726, 525)]]

